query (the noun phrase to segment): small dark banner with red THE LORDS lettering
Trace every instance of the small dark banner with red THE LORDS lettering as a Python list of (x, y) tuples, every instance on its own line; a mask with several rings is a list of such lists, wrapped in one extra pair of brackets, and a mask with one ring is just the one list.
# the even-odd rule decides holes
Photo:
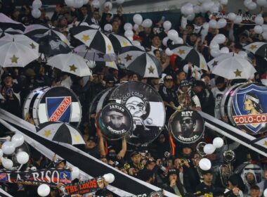
[(98, 191), (99, 189), (103, 189), (104, 187), (105, 183), (103, 177), (89, 179), (87, 181), (77, 182), (75, 184), (65, 184), (65, 189), (70, 195), (83, 195), (84, 193), (92, 193)]

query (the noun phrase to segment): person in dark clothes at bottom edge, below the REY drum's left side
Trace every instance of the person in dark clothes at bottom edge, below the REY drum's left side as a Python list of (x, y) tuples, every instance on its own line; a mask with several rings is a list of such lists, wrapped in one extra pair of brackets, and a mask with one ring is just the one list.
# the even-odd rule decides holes
[(176, 169), (170, 169), (167, 176), (167, 183), (164, 184), (163, 189), (171, 193), (175, 193), (177, 196), (184, 196), (186, 193), (183, 184), (181, 183), (178, 172)]

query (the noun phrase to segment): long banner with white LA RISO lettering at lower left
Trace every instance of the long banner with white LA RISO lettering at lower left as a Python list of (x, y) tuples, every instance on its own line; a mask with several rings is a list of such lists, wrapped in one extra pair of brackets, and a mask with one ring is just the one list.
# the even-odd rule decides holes
[(55, 187), (58, 183), (70, 184), (72, 173), (68, 169), (44, 169), (32, 171), (0, 171), (0, 182)]

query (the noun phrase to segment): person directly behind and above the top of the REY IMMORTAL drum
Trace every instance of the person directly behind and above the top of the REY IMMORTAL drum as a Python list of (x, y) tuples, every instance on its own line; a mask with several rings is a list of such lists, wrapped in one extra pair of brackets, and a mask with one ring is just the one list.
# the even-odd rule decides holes
[(178, 102), (183, 108), (201, 110), (200, 99), (192, 91), (188, 80), (181, 81), (177, 96)]

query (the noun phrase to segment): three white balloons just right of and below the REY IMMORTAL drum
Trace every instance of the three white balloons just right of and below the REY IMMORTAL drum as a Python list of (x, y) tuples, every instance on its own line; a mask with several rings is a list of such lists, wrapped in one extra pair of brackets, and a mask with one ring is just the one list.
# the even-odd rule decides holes
[[(216, 148), (221, 148), (223, 146), (223, 139), (221, 137), (214, 138), (212, 144), (206, 144), (203, 148), (204, 153), (210, 155), (214, 153)], [(202, 158), (199, 163), (201, 170), (209, 170), (211, 168), (211, 161), (207, 158)]]

